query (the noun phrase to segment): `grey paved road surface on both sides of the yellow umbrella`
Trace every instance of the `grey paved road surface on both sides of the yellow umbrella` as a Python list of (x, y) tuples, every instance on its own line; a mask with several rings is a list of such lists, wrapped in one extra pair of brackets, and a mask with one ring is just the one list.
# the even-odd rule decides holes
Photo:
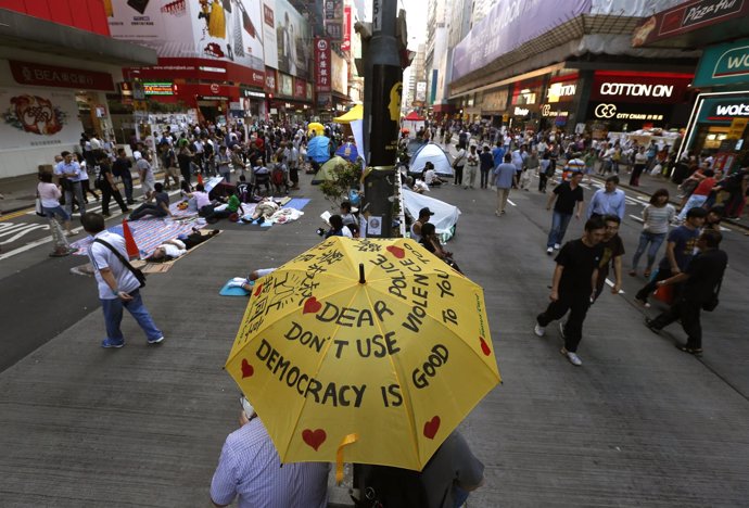
[[(302, 192), (313, 202), (300, 221), (263, 232), (226, 226), (168, 274), (149, 278), (145, 301), (167, 333), (161, 347), (147, 347), (131, 320), (125, 348), (98, 347), (93, 283), (66, 274), (77, 259), (48, 259), (38, 247), (0, 263), (0, 317), (3, 328), (15, 327), (0, 343), (26, 351), (0, 372), (2, 506), (206, 505), (236, 424), (237, 390), (221, 366), (245, 306), (216, 293), (229, 277), (275, 266), (318, 240), (317, 215), (328, 203), (315, 189)], [(575, 368), (551, 327), (544, 339), (532, 332), (554, 268), (544, 249), (545, 196), (512, 192), (508, 214), (495, 217), (492, 191), (447, 186), (431, 195), (462, 211), (449, 249), (485, 288), (504, 379), (462, 426), (486, 465), (486, 484), (469, 506), (746, 504), (746, 237), (725, 232), (731, 266), (721, 307), (703, 319), (702, 359), (673, 347), (684, 339), (677, 327), (658, 336), (642, 325), (631, 301), (643, 280), (626, 277), (624, 294), (605, 293), (591, 310), (584, 365)], [(627, 214), (636, 216), (634, 202)], [(581, 229), (573, 223), (569, 238)], [(624, 221), (630, 253), (638, 231), (635, 219)], [(35, 333), (46, 343), (24, 344)]]

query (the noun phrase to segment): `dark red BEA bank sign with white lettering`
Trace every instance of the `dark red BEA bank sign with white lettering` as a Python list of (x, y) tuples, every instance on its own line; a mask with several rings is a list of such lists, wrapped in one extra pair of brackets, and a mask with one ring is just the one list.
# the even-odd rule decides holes
[(109, 73), (18, 62), (17, 60), (10, 60), (9, 63), (13, 78), (18, 85), (75, 88), (77, 90), (114, 90), (114, 81)]

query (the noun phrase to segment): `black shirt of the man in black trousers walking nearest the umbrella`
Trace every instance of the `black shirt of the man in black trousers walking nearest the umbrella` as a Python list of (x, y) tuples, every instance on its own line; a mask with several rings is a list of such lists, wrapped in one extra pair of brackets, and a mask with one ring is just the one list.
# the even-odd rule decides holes
[(564, 267), (559, 281), (559, 294), (574, 296), (591, 295), (593, 271), (600, 265), (604, 245), (587, 246), (582, 240), (572, 240), (564, 244), (555, 259)]

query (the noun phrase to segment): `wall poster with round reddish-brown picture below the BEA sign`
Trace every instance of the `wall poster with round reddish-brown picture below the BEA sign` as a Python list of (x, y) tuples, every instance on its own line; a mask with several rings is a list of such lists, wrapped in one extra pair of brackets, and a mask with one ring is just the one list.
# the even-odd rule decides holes
[(77, 144), (75, 92), (0, 88), (0, 150)]

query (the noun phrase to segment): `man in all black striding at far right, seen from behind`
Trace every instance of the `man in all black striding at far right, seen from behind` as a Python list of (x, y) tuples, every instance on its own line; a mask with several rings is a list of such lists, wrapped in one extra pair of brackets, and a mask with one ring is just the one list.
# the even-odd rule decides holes
[(708, 229), (697, 240), (699, 253), (689, 262), (683, 272), (658, 282), (659, 287), (683, 284), (683, 291), (674, 304), (656, 319), (645, 319), (646, 326), (658, 333), (676, 320), (687, 334), (687, 342), (677, 345), (680, 350), (695, 356), (702, 354), (702, 327), (700, 310), (714, 310), (718, 306), (723, 274), (728, 256), (719, 249), (723, 236)]

